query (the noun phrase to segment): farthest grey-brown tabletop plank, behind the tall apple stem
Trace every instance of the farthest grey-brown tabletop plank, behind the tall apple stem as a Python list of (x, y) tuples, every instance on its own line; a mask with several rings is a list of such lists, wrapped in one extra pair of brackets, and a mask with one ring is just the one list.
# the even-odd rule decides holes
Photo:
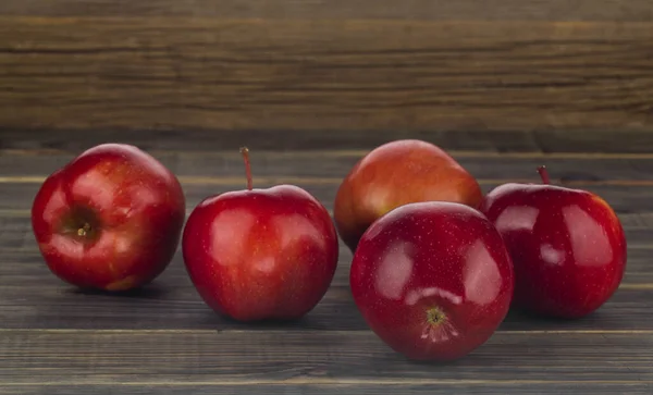
[[(76, 152), (45, 153), (0, 151), (0, 176), (46, 176), (64, 165)], [(344, 177), (367, 150), (256, 151), (250, 150), (255, 177)], [(219, 152), (151, 151), (178, 176), (244, 177), (243, 158), (237, 149)], [(473, 176), (481, 180), (538, 182), (537, 168), (545, 164), (553, 182), (651, 181), (653, 155), (633, 158), (593, 158), (532, 155), (510, 157), (495, 153), (449, 152)], [(653, 182), (651, 182), (653, 185)]]

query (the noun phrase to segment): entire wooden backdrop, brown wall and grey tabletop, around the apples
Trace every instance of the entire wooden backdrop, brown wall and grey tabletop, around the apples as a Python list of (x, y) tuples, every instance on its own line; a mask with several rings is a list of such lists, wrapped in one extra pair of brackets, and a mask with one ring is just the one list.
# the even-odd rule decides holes
[[(653, 393), (653, 3), (649, 0), (0, 1), (0, 394)], [(198, 298), (177, 254), (146, 289), (82, 294), (45, 268), (29, 208), (82, 149), (136, 144), (187, 211), (245, 186), (330, 210), (374, 146), (441, 145), (481, 183), (603, 196), (628, 237), (621, 287), (578, 321), (512, 313), (472, 355), (412, 363), (347, 289), (288, 325)]]

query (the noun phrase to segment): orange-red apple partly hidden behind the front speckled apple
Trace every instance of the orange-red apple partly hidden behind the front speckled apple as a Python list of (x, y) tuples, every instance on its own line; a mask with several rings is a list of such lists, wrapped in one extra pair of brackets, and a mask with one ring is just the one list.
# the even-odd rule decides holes
[(352, 251), (372, 222), (410, 202), (451, 201), (477, 208), (477, 180), (433, 144), (395, 140), (377, 147), (345, 176), (334, 202), (336, 229)]

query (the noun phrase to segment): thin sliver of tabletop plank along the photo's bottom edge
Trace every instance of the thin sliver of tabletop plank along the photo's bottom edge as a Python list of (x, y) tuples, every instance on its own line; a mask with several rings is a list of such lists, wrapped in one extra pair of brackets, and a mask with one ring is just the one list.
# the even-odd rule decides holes
[[(342, 383), (311, 384), (311, 383), (275, 383), (266, 385), (264, 393), (270, 395), (341, 395), (341, 394), (414, 394), (414, 395), (449, 395), (449, 394), (505, 394), (515, 393), (522, 395), (546, 394), (596, 394), (596, 395), (651, 395), (653, 384), (646, 382), (611, 382), (611, 381), (576, 381), (567, 383), (543, 382), (509, 382), (493, 380), (486, 382), (455, 383), (438, 381), (435, 383)], [(257, 384), (224, 384), (201, 383), (190, 384), (79, 384), (79, 385), (3, 385), (0, 394), (3, 395), (250, 395), (261, 393)]]

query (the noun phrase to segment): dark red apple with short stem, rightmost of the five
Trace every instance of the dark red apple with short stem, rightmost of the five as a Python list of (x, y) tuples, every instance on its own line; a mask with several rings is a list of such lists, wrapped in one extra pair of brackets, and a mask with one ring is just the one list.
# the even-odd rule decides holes
[(618, 217), (593, 193), (543, 184), (509, 183), (491, 190), (481, 211), (501, 232), (515, 266), (514, 306), (557, 318), (600, 308), (626, 270), (626, 238)]

